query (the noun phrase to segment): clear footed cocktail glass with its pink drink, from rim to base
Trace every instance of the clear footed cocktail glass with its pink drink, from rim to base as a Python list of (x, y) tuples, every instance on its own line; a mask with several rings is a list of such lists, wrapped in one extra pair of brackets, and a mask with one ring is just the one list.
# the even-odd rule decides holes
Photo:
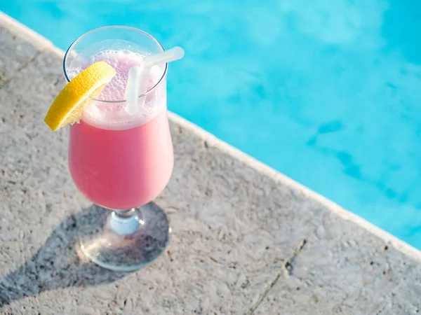
[(69, 170), (88, 200), (109, 209), (106, 219), (80, 232), (81, 250), (96, 264), (117, 271), (140, 269), (165, 251), (168, 218), (152, 203), (173, 172), (173, 144), (166, 113), (167, 64), (155, 66), (142, 109), (125, 110), (128, 69), (142, 56), (163, 51), (155, 38), (131, 27), (102, 27), (69, 47), (67, 80), (105, 60), (117, 71), (102, 94), (88, 99), (80, 123), (70, 127)]

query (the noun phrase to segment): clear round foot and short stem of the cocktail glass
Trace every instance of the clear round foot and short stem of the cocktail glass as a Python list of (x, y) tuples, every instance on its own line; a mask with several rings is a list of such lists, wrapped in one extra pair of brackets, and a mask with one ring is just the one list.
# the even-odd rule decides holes
[(95, 264), (131, 272), (156, 260), (168, 246), (170, 236), (166, 214), (151, 202), (98, 217), (81, 228), (79, 241), (81, 251)]

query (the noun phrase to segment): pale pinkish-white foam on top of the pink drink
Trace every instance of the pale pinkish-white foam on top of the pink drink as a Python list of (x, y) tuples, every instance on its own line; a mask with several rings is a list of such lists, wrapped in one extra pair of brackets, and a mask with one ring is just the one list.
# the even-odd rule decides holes
[[(83, 112), (82, 120), (85, 123), (107, 130), (126, 130), (147, 123), (158, 113), (166, 109), (166, 85), (161, 83), (154, 90), (147, 92), (145, 104), (135, 115), (128, 115), (124, 107), (126, 102), (125, 91), (128, 71), (131, 66), (142, 64), (145, 55), (129, 50), (103, 50), (83, 60), (83, 64), (71, 64), (69, 73), (71, 78), (95, 62), (104, 61), (116, 70), (116, 76), (105, 86), (97, 100), (92, 99)], [(152, 67), (147, 90), (151, 90), (163, 76), (165, 65)], [(166, 80), (166, 78), (163, 78)], [(101, 101), (114, 101), (101, 102)]]

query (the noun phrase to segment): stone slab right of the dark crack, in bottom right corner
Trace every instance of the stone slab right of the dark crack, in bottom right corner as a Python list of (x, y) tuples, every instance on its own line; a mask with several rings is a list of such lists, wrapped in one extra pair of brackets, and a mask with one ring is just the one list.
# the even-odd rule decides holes
[(255, 314), (421, 313), (419, 261), (329, 212), (312, 225)]

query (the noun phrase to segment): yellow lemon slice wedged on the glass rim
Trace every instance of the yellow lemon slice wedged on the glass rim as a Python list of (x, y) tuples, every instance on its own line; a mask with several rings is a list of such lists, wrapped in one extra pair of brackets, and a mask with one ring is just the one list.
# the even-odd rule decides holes
[(55, 131), (67, 124), (79, 122), (88, 97), (98, 97), (116, 75), (107, 62), (95, 62), (74, 77), (57, 95), (44, 122)]

